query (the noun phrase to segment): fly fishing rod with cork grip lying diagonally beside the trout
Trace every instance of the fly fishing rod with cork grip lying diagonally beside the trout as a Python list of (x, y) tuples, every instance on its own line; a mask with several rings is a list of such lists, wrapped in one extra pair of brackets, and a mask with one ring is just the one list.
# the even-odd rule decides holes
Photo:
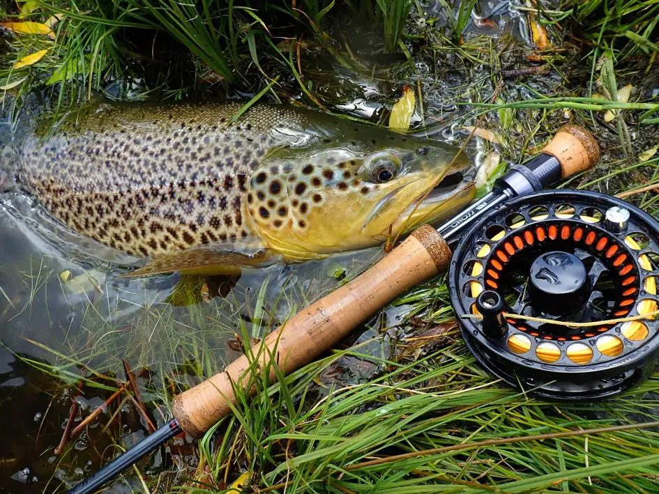
[[(299, 311), (264, 342), (253, 346), (257, 371), (268, 371), (273, 380), (275, 365), (287, 374), (308, 364), (404, 291), (446, 271), (449, 263), (453, 271), (455, 261), (451, 261), (448, 245), (459, 240), (470, 226), (478, 226), (478, 221), (492, 210), (503, 210), (517, 196), (540, 192), (563, 178), (589, 169), (599, 158), (597, 141), (589, 132), (576, 125), (559, 129), (538, 156), (524, 166), (511, 167), (499, 178), (492, 192), (437, 230), (429, 225), (419, 227), (372, 268)], [(144, 454), (181, 432), (199, 438), (231, 412), (230, 405), (236, 400), (234, 389), (240, 387), (247, 394), (255, 393), (255, 387), (250, 384), (254, 364), (243, 355), (224, 371), (176, 396), (172, 421), (81, 481), (69, 493), (96, 491)]]

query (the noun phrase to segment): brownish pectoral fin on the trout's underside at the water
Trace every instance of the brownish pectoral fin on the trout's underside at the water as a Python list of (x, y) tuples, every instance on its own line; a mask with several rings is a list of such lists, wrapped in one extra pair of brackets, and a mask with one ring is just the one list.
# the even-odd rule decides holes
[(243, 268), (262, 268), (281, 258), (280, 254), (266, 248), (252, 252), (232, 252), (223, 247), (222, 244), (209, 244), (158, 256), (144, 267), (122, 276), (139, 277), (172, 271), (187, 275), (237, 275)]

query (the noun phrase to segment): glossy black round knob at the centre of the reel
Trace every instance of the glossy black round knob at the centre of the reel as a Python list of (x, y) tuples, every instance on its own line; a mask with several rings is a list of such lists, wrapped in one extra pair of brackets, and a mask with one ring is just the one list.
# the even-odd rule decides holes
[(568, 252), (546, 252), (531, 264), (529, 298), (534, 307), (547, 314), (573, 314), (588, 300), (587, 281), (580, 258)]

